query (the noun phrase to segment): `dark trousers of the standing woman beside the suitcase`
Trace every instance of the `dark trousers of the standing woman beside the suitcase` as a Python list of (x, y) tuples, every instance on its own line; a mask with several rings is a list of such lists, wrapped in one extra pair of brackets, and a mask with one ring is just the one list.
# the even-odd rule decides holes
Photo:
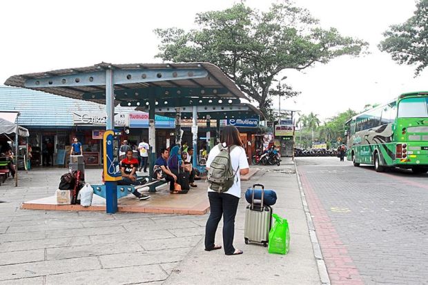
[(215, 232), (218, 223), (223, 217), (223, 248), (226, 255), (235, 252), (233, 247), (233, 235), (235, 234), (235, 216), (237, 204), (240, 198), (226, 193), (208, 192), (210, 201), (210, 217), (205, 227), (205, 248), (211, 250), (214, 247)]

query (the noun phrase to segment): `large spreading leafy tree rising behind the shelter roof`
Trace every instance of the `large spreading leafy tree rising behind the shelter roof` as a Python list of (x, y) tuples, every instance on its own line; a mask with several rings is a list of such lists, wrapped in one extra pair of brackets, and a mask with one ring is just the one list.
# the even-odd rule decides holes
[[(360, 55), (367, 43), (324, 30), (318, 20), (290, 0), (260, 12), (236, 3), (222, 11), (196, 15), (198, 28), (157, 29), (164, 61), (208, 61), (219, 66), (266, 113), (269, 97), (278, 95), (273, 80), (286, 69), (303, 70), (341, 55)], [(282, 84), (285, 97), (296, 95)]]

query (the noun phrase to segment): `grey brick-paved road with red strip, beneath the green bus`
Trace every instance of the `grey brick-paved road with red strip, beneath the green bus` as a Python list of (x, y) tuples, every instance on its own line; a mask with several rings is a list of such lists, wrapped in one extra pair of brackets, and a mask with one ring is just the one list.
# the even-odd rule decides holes
[(428, 284), (428, 175), (296, 158), (332, 284)]

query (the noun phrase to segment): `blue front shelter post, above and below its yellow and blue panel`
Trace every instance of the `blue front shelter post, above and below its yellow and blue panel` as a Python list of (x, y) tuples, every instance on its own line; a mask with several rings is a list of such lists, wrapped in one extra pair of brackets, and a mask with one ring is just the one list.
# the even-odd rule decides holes
[[(106, 130), (115, 128), (115, 86), (113, 82), (113, 70), (106, 70)], [(104, 161), (104, 163), (106, 163)], [(117, 212), (117, 182), (106, 181), (106, 212)]]

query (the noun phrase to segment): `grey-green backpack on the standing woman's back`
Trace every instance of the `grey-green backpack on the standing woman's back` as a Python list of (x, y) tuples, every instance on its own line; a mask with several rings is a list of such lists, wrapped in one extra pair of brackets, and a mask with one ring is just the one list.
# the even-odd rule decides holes
[(229, 190), (235, 181), (236, 172), (233, 173), (231, 162), (231, 151), (235, 146), (226, 148), (222, 144), (217, 146), (220, 149), (220, 153), (211, 162), (207, 178), (211, 190), (223, 193)]

